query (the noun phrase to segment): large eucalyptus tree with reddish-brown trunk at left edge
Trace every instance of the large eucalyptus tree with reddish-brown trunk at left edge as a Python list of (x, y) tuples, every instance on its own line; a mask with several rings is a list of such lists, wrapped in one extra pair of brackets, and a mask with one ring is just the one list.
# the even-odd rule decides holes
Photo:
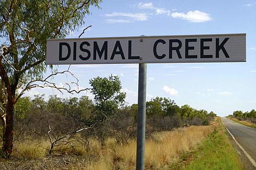
[[(101, 0), (0, 0), (0, 110), (3, 122), (3, 156), (9, 157), (13, 145), (14, 105), (26, 90), (54, 87), (53, 74), (43, 79), (48, 66), (46, 40), (64, 38), (85, 23), (89, 7)], [(69, 72), (67, 70), (66, 72)], [(44, 82), (40, 85), (38, 82)], [(59, 88), (78, 92), (70, 88)]]

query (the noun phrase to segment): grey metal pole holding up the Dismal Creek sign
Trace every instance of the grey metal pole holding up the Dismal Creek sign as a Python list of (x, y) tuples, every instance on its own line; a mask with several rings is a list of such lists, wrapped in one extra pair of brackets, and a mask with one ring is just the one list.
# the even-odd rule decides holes
[(146, 122), (146, 63), (139, 64), (136, 169), (144, 169)]

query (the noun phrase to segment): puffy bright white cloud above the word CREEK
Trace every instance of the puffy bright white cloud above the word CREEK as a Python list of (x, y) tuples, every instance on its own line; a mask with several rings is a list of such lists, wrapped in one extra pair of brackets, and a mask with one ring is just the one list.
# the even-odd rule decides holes
[(212, 19), (209, 14), (198, 10), (188, 11), (187, 13), (174, 12), (172, 13), (172, 17), (185, 19), (190, 22), (205, 22)]

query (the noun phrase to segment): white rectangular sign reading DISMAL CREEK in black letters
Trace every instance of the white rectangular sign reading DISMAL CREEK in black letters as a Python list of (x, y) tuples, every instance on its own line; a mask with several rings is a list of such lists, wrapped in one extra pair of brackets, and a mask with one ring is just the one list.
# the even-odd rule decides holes
[(48, 39), (47, 64), (245, 62), (246, 34)]

